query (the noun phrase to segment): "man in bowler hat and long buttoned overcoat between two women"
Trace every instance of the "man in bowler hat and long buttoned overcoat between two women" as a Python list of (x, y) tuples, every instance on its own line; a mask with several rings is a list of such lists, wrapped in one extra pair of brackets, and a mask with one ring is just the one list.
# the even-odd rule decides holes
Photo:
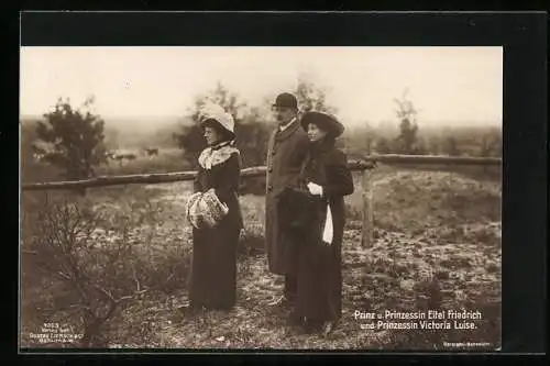
[(272, 304), (292, 304), (297, 287), (297, 243), (292, 233), (280, 228), (277, 202), (285, 188), (298, 185), (309, 141), (297, 119), (296, 97), (279, 95), (273, 109), (278, 126), (270, 136), (267, 147), (265, 243), (270, 271), (285, 276), (284, 295)]

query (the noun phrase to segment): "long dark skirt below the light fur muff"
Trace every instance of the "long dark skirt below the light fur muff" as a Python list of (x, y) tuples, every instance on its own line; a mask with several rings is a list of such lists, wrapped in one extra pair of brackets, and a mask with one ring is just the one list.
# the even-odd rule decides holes
[(237, 246), (240, 230), (226, 225), (193, 231), (189, 300), (193, 306), (228, 310), (237, 302)]

